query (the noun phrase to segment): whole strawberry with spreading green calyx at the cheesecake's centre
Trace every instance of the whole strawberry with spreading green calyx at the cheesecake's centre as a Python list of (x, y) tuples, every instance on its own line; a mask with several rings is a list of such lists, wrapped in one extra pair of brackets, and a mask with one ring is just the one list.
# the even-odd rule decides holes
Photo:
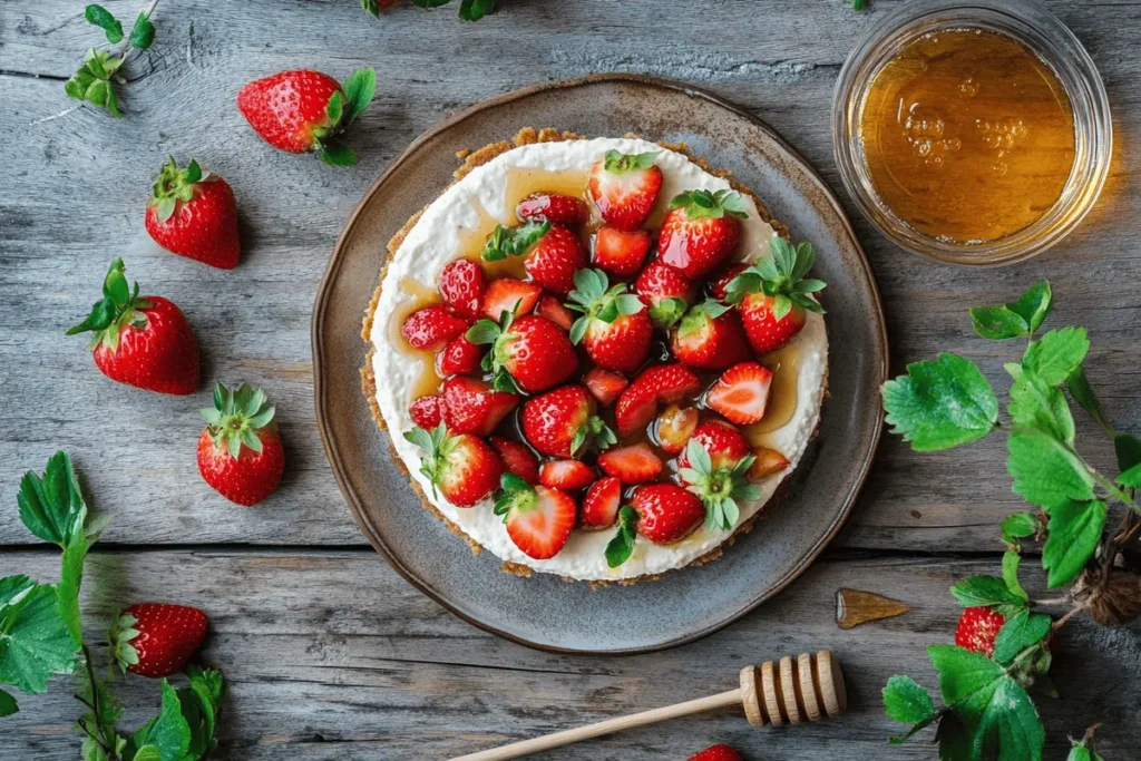
[(582, 343), (600, 367), (637, 371), (646, 362), (654, 337), (646, 305), (626, 293), (623, 283), (608, 289), (609, 281), (600, 269), (580, 269), (574, 283), (567, 306), (583, 316), (570, 327), (570, 342)]

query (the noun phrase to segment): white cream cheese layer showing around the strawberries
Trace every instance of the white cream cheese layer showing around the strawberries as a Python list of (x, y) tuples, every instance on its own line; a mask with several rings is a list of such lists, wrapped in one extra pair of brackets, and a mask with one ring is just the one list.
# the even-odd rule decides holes
[[(404, 461), (411, 478), (420, 481), (428, 499), (475, 542), (503, 560), (584, 581), (616, 581), (679, 568), (720, 545), (733, 532), (703, 526), (687, 539), (669, 547), (659, 547), (639, 537), (633, 554), (620, 568), (609, 568), (605, 557), (605, 548), (614, 529), (575, 531), (566, 547), (550, 560), (528, 558), (512, 544), (502, 519), (493, 515), (491, 500), (474, 508), (456, 508), (443, 497), (432, 497), (431, 484), (420, 473), (420, 450), (404, 439), (404, 432), (413, 427), (407, 410), (411, 388), (420, 373), (419, 362), (410, 359), (408, 355), (391, 346), (388, 321), (397, 305), (408, 298), (400, 288), (400, 281), (407, 277), (424, 285), (434, 285), (439, 270), (459, 252), (463, 230), (479, 225), (479, 208), (504, 224), (513, 219), (513, 209), (507, 208), (505, 199), (509, 170), (583, 171), (610, 149), (621, 153), (658, 152), (656, 163), (664, 175), (658, 194), (659, 204), (667, 203), (685, 191), (729, 188), (727, 180), (710, 175), (685, 155), (646, 140), (599, 138), (540, 143), (515, 148), (474, 169), (424, 210), (393, 254), (372, 326), (377, 402), (397, 455)], [(752, 259), (768, 253), (769, 241), (776, 236), (776, 232), (759, 217), (751, 199), (745, 196), (744, 203), (748, 218), (742, 220), (742, 250)], [(742, 521), (755, 515), (796, 467), (819, 421), (828, 349), (824, 319), (810, 314), (804, 329), (794, 341), (800, 357), (796, 410), (785, 426), (767, 437), (770, 445), (788, 459), (791, 465), (760, 484), (759, 500), (741, 503)]]

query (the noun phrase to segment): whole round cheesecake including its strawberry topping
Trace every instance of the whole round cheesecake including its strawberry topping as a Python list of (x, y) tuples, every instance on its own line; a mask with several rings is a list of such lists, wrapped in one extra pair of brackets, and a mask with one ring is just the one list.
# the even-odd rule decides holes
[(819, 422), (816, 252), (683, 149), (540, 137), (469, 157), (389, 245), (378, 422), (426, 507), (515, 573), (705, 561)]

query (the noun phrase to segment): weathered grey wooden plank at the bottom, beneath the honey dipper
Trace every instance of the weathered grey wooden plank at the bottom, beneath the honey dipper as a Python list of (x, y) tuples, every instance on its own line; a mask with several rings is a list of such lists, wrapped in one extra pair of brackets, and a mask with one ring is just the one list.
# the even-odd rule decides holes
[[(9, 552), (0, 556), (0, 575), (49, 580), (55, 562), (48, 552)], [(722, 712), (544, 758), (681, 759), (727, 740), (750, 758), (834, 758), (843, 742), (845, 758), (920, 759), (931, 754), (924, 742), (891, 751), (884, 744), (895, 727), (882, 715), (880, 688), (899, 672), (933, 688), (923, 648), (952, 637), (957, 607), (947, 586), (965, 574), (994, 572), (995, 562), (834, 557), (721, 633), (623, 658), (549, 655), (484, 634), (369, 552), (99, 552), (88, 568), (91, 640), (129, 601), (177, 600), (210, 614), (212, 634), (201, 659), (225, 669), (232, 686), (222, 759), (280, 759), (285, 748), (298, 760), (444, 759), (728, 689), (750, 661), (819, 648), (833, 649), (844, 664), (851, 688), (844, 719), (754, 731)], [(841, 631), (833, 620), (840, 586), (888, 593), (914, 609)], [(1065, 697), (1039, 703), (1047, 758), (1061, 758), (1067, 731), (1081, 734), (1094, 721), (1104, 722), (1099, 739), (1107, 758), (1141, 753), (1139, 632), (1085, 622), (1063, 631), (1054, 675)], [(124, 695), (131, 709), (126, 724), (144, 718), (155, 685), (131, 678)], [(0, 742), (13, 758), (74, 758), (76, 738), (67, 729), (75, 705), (67, 689), (57, 683), (22, 704), (22, 713), (0, 722)]]

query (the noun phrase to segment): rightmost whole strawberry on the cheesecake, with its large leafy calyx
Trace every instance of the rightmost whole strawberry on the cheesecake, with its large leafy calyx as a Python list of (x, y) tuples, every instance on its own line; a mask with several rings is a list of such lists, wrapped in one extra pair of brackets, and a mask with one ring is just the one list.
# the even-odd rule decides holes
[(772, 254), (758, 259), (730, 281), (728, 300), (737, 305), (753, 351), (768, 354), (791, 341), (804, 326), (804, 313), (824, 314), (810, 296), (824, 282), (806, 278), (816, 261), (809, 243), (795, 249), (783, 237), (769, 243)]

